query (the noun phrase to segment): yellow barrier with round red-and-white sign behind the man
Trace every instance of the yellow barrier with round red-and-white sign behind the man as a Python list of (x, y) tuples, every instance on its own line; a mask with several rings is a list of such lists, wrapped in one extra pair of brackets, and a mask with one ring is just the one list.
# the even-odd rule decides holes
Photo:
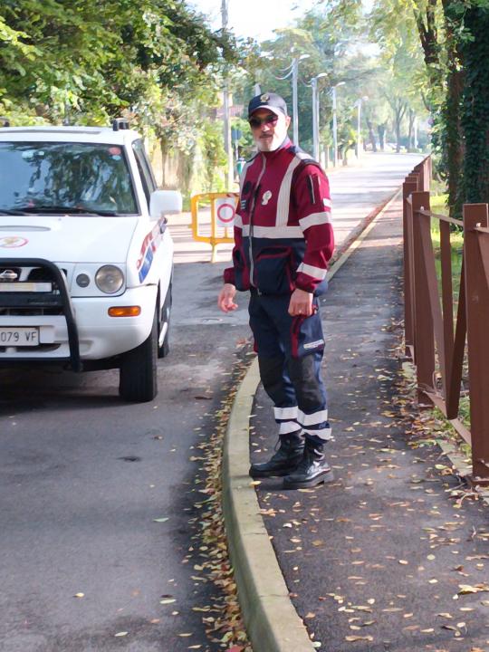
[[(190, 200), (192, 236), (196, 242), (206, 242), (212, 246), (211, 263), (216, 263), (217, 245), (235, 242), (232, 229), (238, 197), (239, 194), (235, 192), (201, 193), (200, 195), (194, 195)], [(229, 201), (225, 202), (225, 199), (229, 199)], [(199, 233), (199, 226), (202, 223), (199, 223), (198, 220), (198, 205), (203, 202), (210, 202), (210, 235)], [(229, 222), (229, 226), (225, 225), (226, 222)], [(229, 235), (230, 231), (231, 235)]]

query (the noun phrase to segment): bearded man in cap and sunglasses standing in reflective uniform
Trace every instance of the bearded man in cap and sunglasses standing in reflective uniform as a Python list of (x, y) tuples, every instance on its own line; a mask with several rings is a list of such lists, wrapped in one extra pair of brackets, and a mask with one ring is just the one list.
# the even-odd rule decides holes
[(319, 163), (288, 139), (291, 119), (280, 95), (254, 97), (248, 120), (258, 152), (241, 176), (233, 267), (225, 270), (218, 305), (233, 311), (236, 290), (250, 290), (260, 377), (279, 425), (277, 452), (252, 465), (250, 475), (284, 476), (291, 489), (315, 486), (332, 480), (323, 454), (331, 427), (317, 299), (334, 248), (329, 183)]

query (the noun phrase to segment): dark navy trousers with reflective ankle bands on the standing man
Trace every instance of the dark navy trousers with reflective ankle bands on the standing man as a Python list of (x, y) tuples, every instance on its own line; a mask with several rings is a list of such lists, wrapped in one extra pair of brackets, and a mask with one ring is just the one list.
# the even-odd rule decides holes
[(290, 301), (290, 294), (251, 292), (250, 326), (260, 378), (273, 400), (279, 434), (302, 430), (306, 437), (322, 443), (331, 439), (331, 427), (321, 379), (324, 337), (319, 302), (314, 297), (311, 317), (292, 317)]

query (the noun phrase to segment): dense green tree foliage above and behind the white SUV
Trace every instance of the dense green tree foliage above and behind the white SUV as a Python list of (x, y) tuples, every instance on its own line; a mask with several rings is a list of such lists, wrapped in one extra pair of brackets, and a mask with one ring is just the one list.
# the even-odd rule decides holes
[(188, 150), (199, 105), (216, 105), (235, 40), (182, 0), (5, 0), (0, 7), (3, 113), (15, 122), (105, 124), (128, 111), (139, 127)]

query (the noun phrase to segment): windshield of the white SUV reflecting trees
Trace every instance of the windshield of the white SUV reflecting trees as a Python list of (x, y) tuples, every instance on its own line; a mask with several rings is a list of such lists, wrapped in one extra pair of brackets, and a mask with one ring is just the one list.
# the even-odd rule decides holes
[(120, 146), (0, 142), (0, 215), (138, 212)]

